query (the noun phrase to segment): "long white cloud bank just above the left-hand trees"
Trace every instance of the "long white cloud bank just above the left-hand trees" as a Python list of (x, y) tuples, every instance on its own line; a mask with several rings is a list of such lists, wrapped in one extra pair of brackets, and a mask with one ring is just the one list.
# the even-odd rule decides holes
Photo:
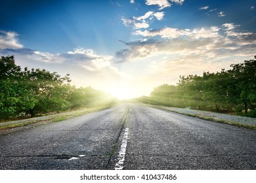
[[(116, 67), (112, 66), (113, 56), (98, 55), (95, 50), (85, 48), (75, 48), (73, 51), (52, 54), (49, 52), (40, 52), (37, 50), (30, 50), (26, 48), (0, 48), (0, 54), (14, 55), (15, 58), (28, 59), (35, 63), (53, 63), (53, 64), (65, 64), (76, 65), (80, 68), (86, 69), (90, 72), (100, 72), (107, 70), (108, 73), (114, 73), (114, 75), (125, 76), (119, 72)], [(25, 65), (27, 66), (27, 65)]]

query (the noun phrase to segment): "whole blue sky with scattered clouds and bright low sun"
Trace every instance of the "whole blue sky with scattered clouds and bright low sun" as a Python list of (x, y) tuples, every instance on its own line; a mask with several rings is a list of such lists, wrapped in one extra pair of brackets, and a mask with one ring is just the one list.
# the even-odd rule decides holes
[(255, 0), (1, 0), (0, 54), (128, 99), (256, 55)]

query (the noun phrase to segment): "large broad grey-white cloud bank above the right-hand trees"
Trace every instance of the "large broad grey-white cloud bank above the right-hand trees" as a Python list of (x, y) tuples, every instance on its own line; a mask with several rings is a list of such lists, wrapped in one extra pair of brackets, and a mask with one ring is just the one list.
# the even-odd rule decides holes
[[(253, 56), (256, 48), (256, 34), (238, 31), (239, 25), (223, 24), (220, 27), (201, 27), (196, 29), (177, 29), (164, 27), (155, 30), (137, 30), (134, 35), (161, 37), (144, 41), (125, 42), (129, 46), (116, 53), (121, 61), (138, 61), (156, 58), (161, 55), (190, 56), (215, 59), (233, 56)], [(120, 62), (121, 62), (120, 61)]]

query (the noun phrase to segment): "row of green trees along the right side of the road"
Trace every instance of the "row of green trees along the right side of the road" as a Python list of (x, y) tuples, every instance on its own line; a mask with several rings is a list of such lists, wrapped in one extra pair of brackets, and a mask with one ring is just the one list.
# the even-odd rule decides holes
[(158, 86), (150, 97), (140, 97), (139, 101), (256, 117), (256, 56), (230, 67), (217, 73), (204, 72), (202, 76), (180, 76), (176, 86)]

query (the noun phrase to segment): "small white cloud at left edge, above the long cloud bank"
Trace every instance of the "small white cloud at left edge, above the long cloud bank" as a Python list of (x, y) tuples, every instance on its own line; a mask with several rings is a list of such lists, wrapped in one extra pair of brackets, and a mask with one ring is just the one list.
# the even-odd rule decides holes
[(0, 30), (0, 49), (5, 48), (23, 48), (18, 42), (18, 34), (15, 32), (7, 32)]

